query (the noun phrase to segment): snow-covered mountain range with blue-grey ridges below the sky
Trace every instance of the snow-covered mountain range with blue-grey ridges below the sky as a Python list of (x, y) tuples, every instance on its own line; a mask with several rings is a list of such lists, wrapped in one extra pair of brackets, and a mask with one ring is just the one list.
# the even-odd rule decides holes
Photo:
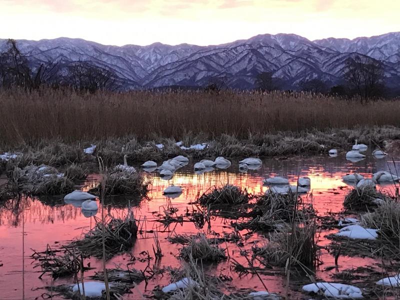
[[(0, 39), (1, 50), (5, 41)], [(67, 65), (81, 60), (110, 68), (126, 88), (204, 86), (216, 78), (232, 87), (249, 88), (263, 71), (271, 71), (290, 87), (313, 78), (336, 83), (342, 76), (345, 60), (357, 53), (381, 60), (386, 81), (400, 83), (400, 32), (314, 41), (295, 34), (260, 34), (210, 46), (111, 46), (60, 37), (18, 40), (18, 46), (33, 64), (52, 61)]]

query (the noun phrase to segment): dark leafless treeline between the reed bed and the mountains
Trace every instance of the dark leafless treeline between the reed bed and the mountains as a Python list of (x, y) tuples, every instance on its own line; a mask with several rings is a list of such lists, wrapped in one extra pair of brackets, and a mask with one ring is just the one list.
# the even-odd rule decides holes
[[(227, 78), (218, 77), (209, 80), (203, 87), (214, 92), (230, 88)], [(53, 63), (44, 61), (33, 64), (21, 53), (13, 39), (7, 41), (7, 49), (0, 52), (0, 88), (19, 87), (27, 90), (41, 86), (62, 88), (94, 93), (97, 90), (120, 90), (123, 83), (115, 72), (88, 61)], [(199, 89), (198, 86), (167, 86), (168, 89)], [(254, 89), (262, 91), (299, 90), (313, 93), (331, 94), (341, 97), (367, 99), (394, 97), (400, 95), (400, 88), (395, 90), (385, 86), (384, 66), (379, 60), (354, 54), (345, 62), (340, 78), (334, 82), (319, 78), (288, 83), (273, 76), (272, 71), (264, 71), (254, 76)], [(157, 88), (162, 89), (162, 87)]]

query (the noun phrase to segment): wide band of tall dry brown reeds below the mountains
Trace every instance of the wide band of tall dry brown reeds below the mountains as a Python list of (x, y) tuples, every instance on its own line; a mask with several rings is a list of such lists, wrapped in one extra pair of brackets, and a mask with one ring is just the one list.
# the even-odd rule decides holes
[(181, 138), (188, 133), (237, 137), (278, 130), (400, 126), (395, 100), (371, 101), (288, 92), (0, 91), (0, 146), (60, 138), (135, 135)]

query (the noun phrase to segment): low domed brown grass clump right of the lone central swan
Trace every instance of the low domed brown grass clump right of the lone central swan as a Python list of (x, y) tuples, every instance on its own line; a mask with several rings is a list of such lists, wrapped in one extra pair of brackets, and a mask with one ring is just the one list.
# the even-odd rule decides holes
[(226, 184), (220, 188), (211, 187), (197, 199), (197, 202), (201, 205), (210, 206), (240, 205), (248, 203), (252, 198), (253, 195), (248, 193), (246, 189), (241, 190), (237, 186)]

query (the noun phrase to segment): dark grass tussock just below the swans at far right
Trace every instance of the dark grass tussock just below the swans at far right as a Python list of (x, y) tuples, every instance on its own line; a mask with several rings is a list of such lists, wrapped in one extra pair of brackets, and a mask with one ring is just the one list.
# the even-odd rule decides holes
[(387, 194), (372, 187), (353, 188), (345, 195), (343, 206), (351, 210), (367, 210), (370, 207), (376, 207), (380, 201), (388, 198)]

